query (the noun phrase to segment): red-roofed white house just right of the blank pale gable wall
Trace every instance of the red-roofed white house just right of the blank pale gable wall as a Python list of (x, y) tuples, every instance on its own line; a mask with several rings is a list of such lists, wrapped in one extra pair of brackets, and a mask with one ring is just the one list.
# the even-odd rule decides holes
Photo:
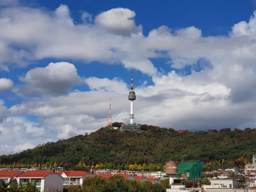
[(58, 171), (59, 175), (63, 177), (63, 186), (70, 184), (83, 184), (86, 177), (93, 177), (93, 173), (88, 173), (84, 171)]

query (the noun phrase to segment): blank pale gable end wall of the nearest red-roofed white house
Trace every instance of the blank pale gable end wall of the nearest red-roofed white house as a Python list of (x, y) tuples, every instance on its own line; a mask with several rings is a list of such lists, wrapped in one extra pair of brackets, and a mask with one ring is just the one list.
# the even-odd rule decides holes
[(63, 191), (63, 178), (59, 174), (49, 174), (44, 178), (44, 185), (41, 183), (41, 192), (46, 188), (48, 192), (49, 189), (52, 190), (62, 190)]

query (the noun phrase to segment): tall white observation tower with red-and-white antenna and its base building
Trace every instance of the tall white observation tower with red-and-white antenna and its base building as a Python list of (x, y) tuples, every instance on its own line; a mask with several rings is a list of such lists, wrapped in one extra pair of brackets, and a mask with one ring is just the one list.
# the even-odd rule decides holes
[(133, 114), (133, 101), (136, 100), (136, 95), (133, 89), (133, 67), (132, 67), (132, 82), (131, 82), (131, 90), (129, 92), (128, 100), (131, 101), (131, 112), (130, 112), (130, 123), (122, 124), (120, 131), (132, 131), (132, 132), (141, 132), (141, 126), (137, 125), (133, 122), (134, 114)]

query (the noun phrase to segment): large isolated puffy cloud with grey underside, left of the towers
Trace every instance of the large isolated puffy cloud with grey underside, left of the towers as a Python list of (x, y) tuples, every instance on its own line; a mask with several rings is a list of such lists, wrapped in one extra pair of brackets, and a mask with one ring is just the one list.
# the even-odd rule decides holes
[(67, 94), (74, 85), (82, 83), (76, 67), (68, 62), (50, 63), (27, 72), (20, 81), (26, 85), (19, 90), (24, 95)]

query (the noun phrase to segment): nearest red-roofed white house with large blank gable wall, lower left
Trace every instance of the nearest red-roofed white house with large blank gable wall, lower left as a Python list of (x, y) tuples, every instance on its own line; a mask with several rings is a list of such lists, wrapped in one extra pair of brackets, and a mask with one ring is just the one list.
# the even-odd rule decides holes
[(27, 181), (30, 182), (36, 181), (37, 188), (41, 192), (52, 190), (63, 190), (63, 177), (58, 173), (53, 173), (49, 171), (27, 171), (15, 177), (18, 182), (21, 182), (23, 185), (26, 185)]

